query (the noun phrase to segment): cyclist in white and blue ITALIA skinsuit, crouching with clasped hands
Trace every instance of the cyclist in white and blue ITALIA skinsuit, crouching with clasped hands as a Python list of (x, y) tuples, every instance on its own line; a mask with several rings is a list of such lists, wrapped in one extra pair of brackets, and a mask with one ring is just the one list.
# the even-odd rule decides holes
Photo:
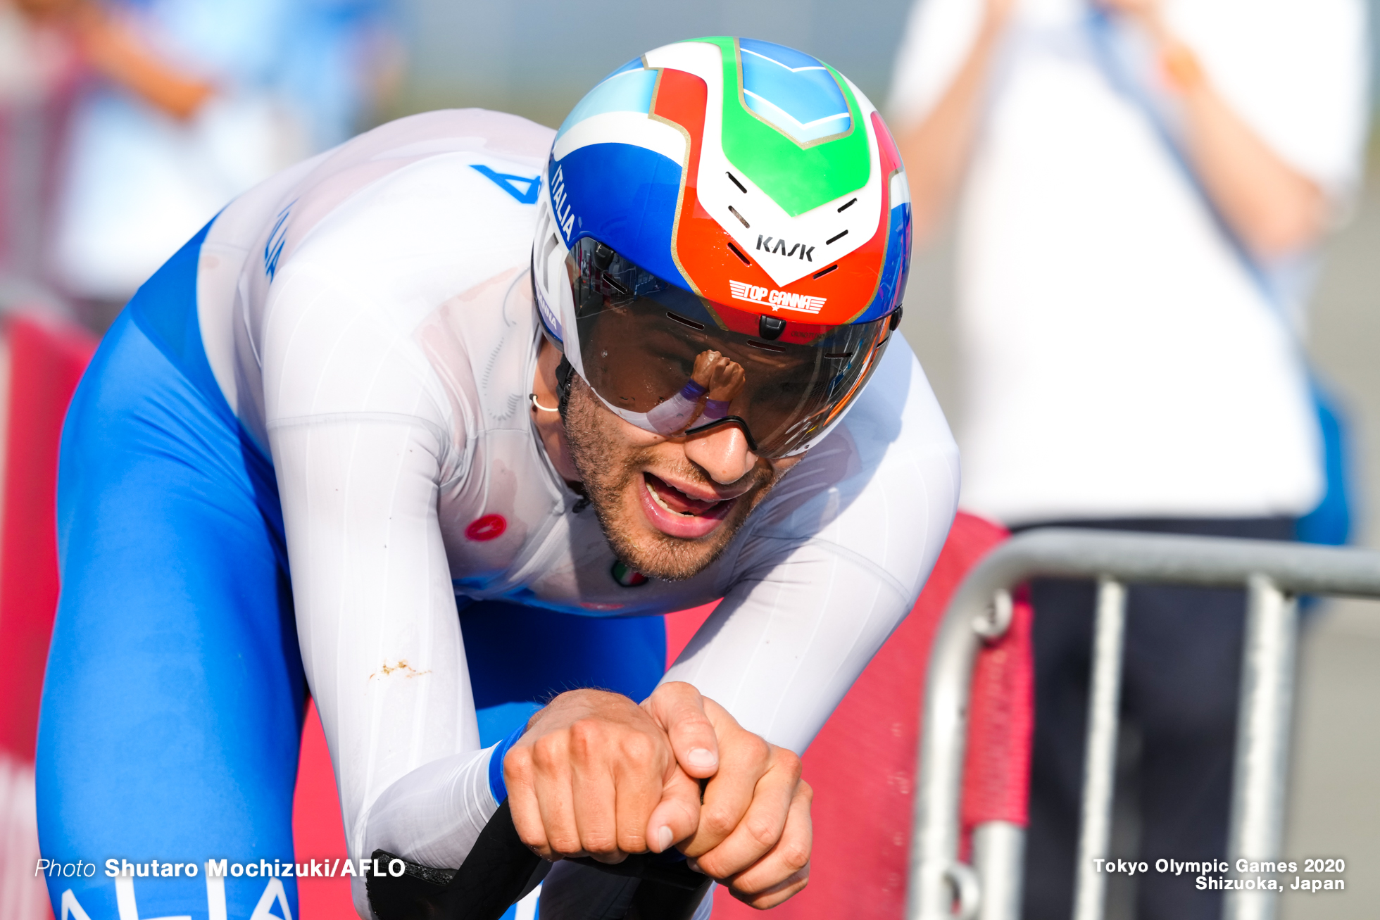
[[(956, 502), (908, 257), (874, 106), (747, 39), (647, 52), (555, 137), (432, 112), (228, 206), (68, 418), (43, 851), (160, 862), (54, 912), (295, 913), (306, 692), (356, 865), (457, 866), (509, 796), (548, 858), (803, 887), (798, 754)], [(720, 597), (662, 676), (651, 615)], [(208, 859), (246, 873), (170, 866)]]

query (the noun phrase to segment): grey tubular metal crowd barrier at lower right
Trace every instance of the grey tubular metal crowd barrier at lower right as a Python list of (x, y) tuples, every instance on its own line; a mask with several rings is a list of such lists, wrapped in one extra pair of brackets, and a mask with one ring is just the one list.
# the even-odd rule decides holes
[[(1047, 528), (1002, 543), (967, 575), (944, 614), (926, 677), (920, 779), (907, 920), (1017, 920), (1025, 832), (994, 821), (959, 859), (959, 799), (973, 663), (1010, 623), (1010, 589), (1035, 577), (1097, 581), (1075, 920), (1100, 920), (1116, 768), (1126, 583), (1245, 588), (1246, 637), (1228, 862), (1281, 858), (1293, 710), (1299, 594), (1380, 599), (1380, 552), (1254, 539)], [(1272, 920), (1272, 891), (1227, 891), (1227, 920)]]

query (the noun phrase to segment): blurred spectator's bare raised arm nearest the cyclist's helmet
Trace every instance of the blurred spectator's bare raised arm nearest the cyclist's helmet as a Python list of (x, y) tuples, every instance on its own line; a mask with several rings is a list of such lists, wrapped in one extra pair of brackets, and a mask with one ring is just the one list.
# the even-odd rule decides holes
[(916, 244), (934, 233), (963, 178), (1005, 19), (1005, 12), (988, 11), (948, 90), (923, 121), (898, 138), (911, 183), (911, 232)]

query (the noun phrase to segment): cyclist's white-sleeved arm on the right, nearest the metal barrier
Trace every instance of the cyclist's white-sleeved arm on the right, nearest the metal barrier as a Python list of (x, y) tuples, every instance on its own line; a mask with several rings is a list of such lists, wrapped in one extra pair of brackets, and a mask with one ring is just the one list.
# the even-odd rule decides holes
[(911, 611), (958, 503), (958, 452), (904, 341), (845, 426), (759, 509), (738, 557), (747, 574), (664, 679), (798, 753)]

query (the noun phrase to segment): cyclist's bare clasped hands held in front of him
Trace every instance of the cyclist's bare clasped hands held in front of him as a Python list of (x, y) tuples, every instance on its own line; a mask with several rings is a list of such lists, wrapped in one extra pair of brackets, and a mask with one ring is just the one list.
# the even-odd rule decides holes
[(800, 759), (690, 684), (662, 684), (642, 705), (599, 690), (556, 697), (508, 750), (504, 781), (518, 834), (546, 859), (679, 847), (753, 908), (809, 879)]

